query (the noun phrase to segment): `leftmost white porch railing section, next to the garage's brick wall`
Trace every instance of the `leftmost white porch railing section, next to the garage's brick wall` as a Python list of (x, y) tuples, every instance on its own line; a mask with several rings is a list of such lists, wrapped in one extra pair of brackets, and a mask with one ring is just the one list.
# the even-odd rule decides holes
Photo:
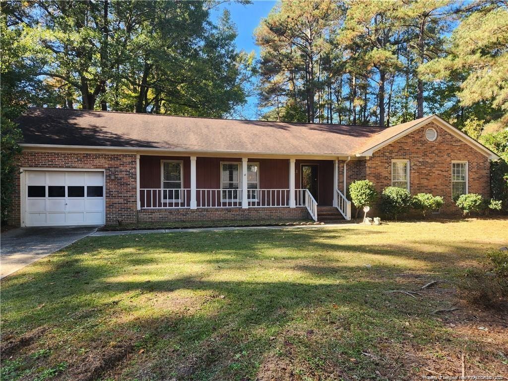
[(142, 209), (190, 207), (190, 189), (143, 188), (139, 191)]

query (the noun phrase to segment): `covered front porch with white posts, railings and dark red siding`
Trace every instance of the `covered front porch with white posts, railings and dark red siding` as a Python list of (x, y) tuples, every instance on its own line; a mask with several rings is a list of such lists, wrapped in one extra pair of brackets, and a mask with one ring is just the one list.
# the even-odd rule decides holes
[(138, 218), (317, 221), (318, 207), (333, 206), (350, 220), (338, 173), (338, 159), (138, 155)]

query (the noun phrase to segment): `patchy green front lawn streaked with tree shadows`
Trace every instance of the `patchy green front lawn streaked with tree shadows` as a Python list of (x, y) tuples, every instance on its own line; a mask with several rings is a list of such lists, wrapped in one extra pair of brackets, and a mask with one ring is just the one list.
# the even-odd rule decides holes
[(2, 281), (2, 379), (422, 379), (460, 375), (463, 353), (466, 375), (506, 375), (507, 316), (456, 284), (507, 232), (469, 219), (85, 238)]

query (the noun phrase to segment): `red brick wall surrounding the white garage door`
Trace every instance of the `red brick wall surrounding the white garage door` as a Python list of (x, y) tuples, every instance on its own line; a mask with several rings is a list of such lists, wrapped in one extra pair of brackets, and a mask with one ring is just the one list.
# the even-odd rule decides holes
[[(70, 153), (23, 151), (19, 161), (25, 168), (105, 169), (106, 224), (121, 219), (136, 221), (136, 155), (117, 153)], [(114, 173), (114, 180), (110, 175)], [(20, 176), (16, 178), (9, 223), (20, 224)]]

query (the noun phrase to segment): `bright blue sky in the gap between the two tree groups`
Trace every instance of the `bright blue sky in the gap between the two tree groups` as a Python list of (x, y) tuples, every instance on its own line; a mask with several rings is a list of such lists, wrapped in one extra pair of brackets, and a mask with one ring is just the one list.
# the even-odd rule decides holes
[[(247, 52), (254, 50), (256, 55), (259, 56), (259, 48), (254, 42), (254, 30), (259, 25), (261, 19), (268, 16), (275, 3), (274, 0), (254, 0), (249, 5), (232, 2), (225, 3), (213, 10), (212, 18), (220, 16), (224, 9), (228, 9), (231, 19), (236, 24), (238, 30), (238, 37), (236, 38), (238, 50), (245, 50)], [(234, 115), (234, 117), (257, 119), (256, 102), (256, 97), (250, 97), (247, 100), (247, 104), (243, 107), (241, 115)]]

